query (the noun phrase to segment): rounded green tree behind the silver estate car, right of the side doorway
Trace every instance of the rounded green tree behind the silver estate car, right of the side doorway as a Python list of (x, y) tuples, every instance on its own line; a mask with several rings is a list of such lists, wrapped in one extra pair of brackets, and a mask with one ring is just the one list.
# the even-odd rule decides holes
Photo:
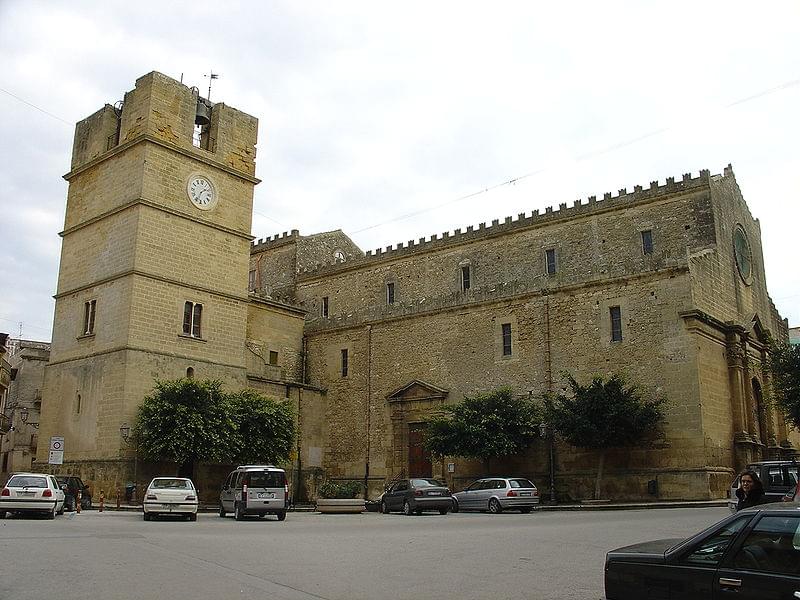
[(488, 474), (492, 458), (518, 454), (536, 439), (539, 422), (531, 399), (503, 387), (443, 406), (427, 423), (425, 447), (437, 456), (481, 459)]

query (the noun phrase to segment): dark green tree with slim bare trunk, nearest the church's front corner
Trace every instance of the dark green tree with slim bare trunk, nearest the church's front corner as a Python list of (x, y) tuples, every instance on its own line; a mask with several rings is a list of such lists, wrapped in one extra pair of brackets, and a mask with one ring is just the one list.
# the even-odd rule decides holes
[(571, 395), (545, 397), (546, 418), (554, 431), (578, 448), (598, 451), (594, 498), (600, 498), (600, 482), (609, 448), (642, 444), (661, 432), (664, 399), (644, 398), (636, 386), (626, 385), (620, 375), (594, 377), (586, 386), (567, 375)]

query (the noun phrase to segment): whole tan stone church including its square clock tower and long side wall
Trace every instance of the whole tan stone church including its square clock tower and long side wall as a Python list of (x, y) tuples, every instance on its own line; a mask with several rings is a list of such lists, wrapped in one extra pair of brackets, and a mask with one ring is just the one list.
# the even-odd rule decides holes
[[(298, 500), (325, 477), (459, 488), (481, 466), (425, 452), (431, 411), (565, 372), (667, 399), (662, 440), (608, 456), (608, 497), (721, 497), (797, 447), (766, 400), (787, 325), (730, 167), (364, 253), (339, 230), (251, 240), (256, 130), (159, 73), (77, 125), (41, 415), (57, 469), (108, 489), (154, 474), (120, 431), (154, 378), (185, 376), (294, 404)], [(588, 497), (595, 457), (553, 443), (498, 468)]]

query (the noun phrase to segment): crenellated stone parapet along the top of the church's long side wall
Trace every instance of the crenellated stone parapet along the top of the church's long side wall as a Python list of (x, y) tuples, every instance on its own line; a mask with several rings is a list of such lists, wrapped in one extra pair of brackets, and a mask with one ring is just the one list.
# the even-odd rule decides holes
[[(730, 165), (728, 165), (724, 171), (724, 177), (728, 176), (733, 177), (733, 170)], [(312, 268), (303, 269), (298, 273), (298, 278), (314, 278), (328, 275), (331, 272), (373, 265), (378, 262), (394, 261), (406, 256), (441, 250), (443, 248), (488, 239), (510, 232), (541, 227), (558, 221), (574, 219), (579, 216), (599, 214), (635, 204), (644, 204), (665, 196), (685, 194), (707, 188), (710, 181), (710, 171), (703, 169), (698, 173), (697, 177), (692, 177), (691, 173), (685, 173), (679, 180), (676, 180), (674, 177), (668, 177), (663, 184), (660, 184), (658, 181), (652, 181), (649, 187), (645, 188), (641, 185), (636, 185), (633, 191), (630, 192), (627, 188), (621, 188), (616, 194), (606, 192), (601, 199), (598, 199), (597, 196), (589, 196), (586, 201), (582, 201), (581, 199), (573, 201), (572, 205), (562, 202), (558, 205), (557, 209), (548, 206), (543, 212), (537, 209), (530, 214), (519, 213), (516, 217), (505, 217), (502, 221), (500, 219), (494, 219), (490, 225), (486, 223), (480, 223), (477, 227), (470, 225), (466, 229), (459, 228), (452, 232), (445, 231), (441, 235), (433, 234), (427, 238), (422, 237), (418, 240), (399, 242), (395, 245), (386, 246), (385, 248), (368, 250), (363, 258), (349, 260), (346, 263), (331, 261)], [(272, 243), (274, 243), (274, 240)]]

